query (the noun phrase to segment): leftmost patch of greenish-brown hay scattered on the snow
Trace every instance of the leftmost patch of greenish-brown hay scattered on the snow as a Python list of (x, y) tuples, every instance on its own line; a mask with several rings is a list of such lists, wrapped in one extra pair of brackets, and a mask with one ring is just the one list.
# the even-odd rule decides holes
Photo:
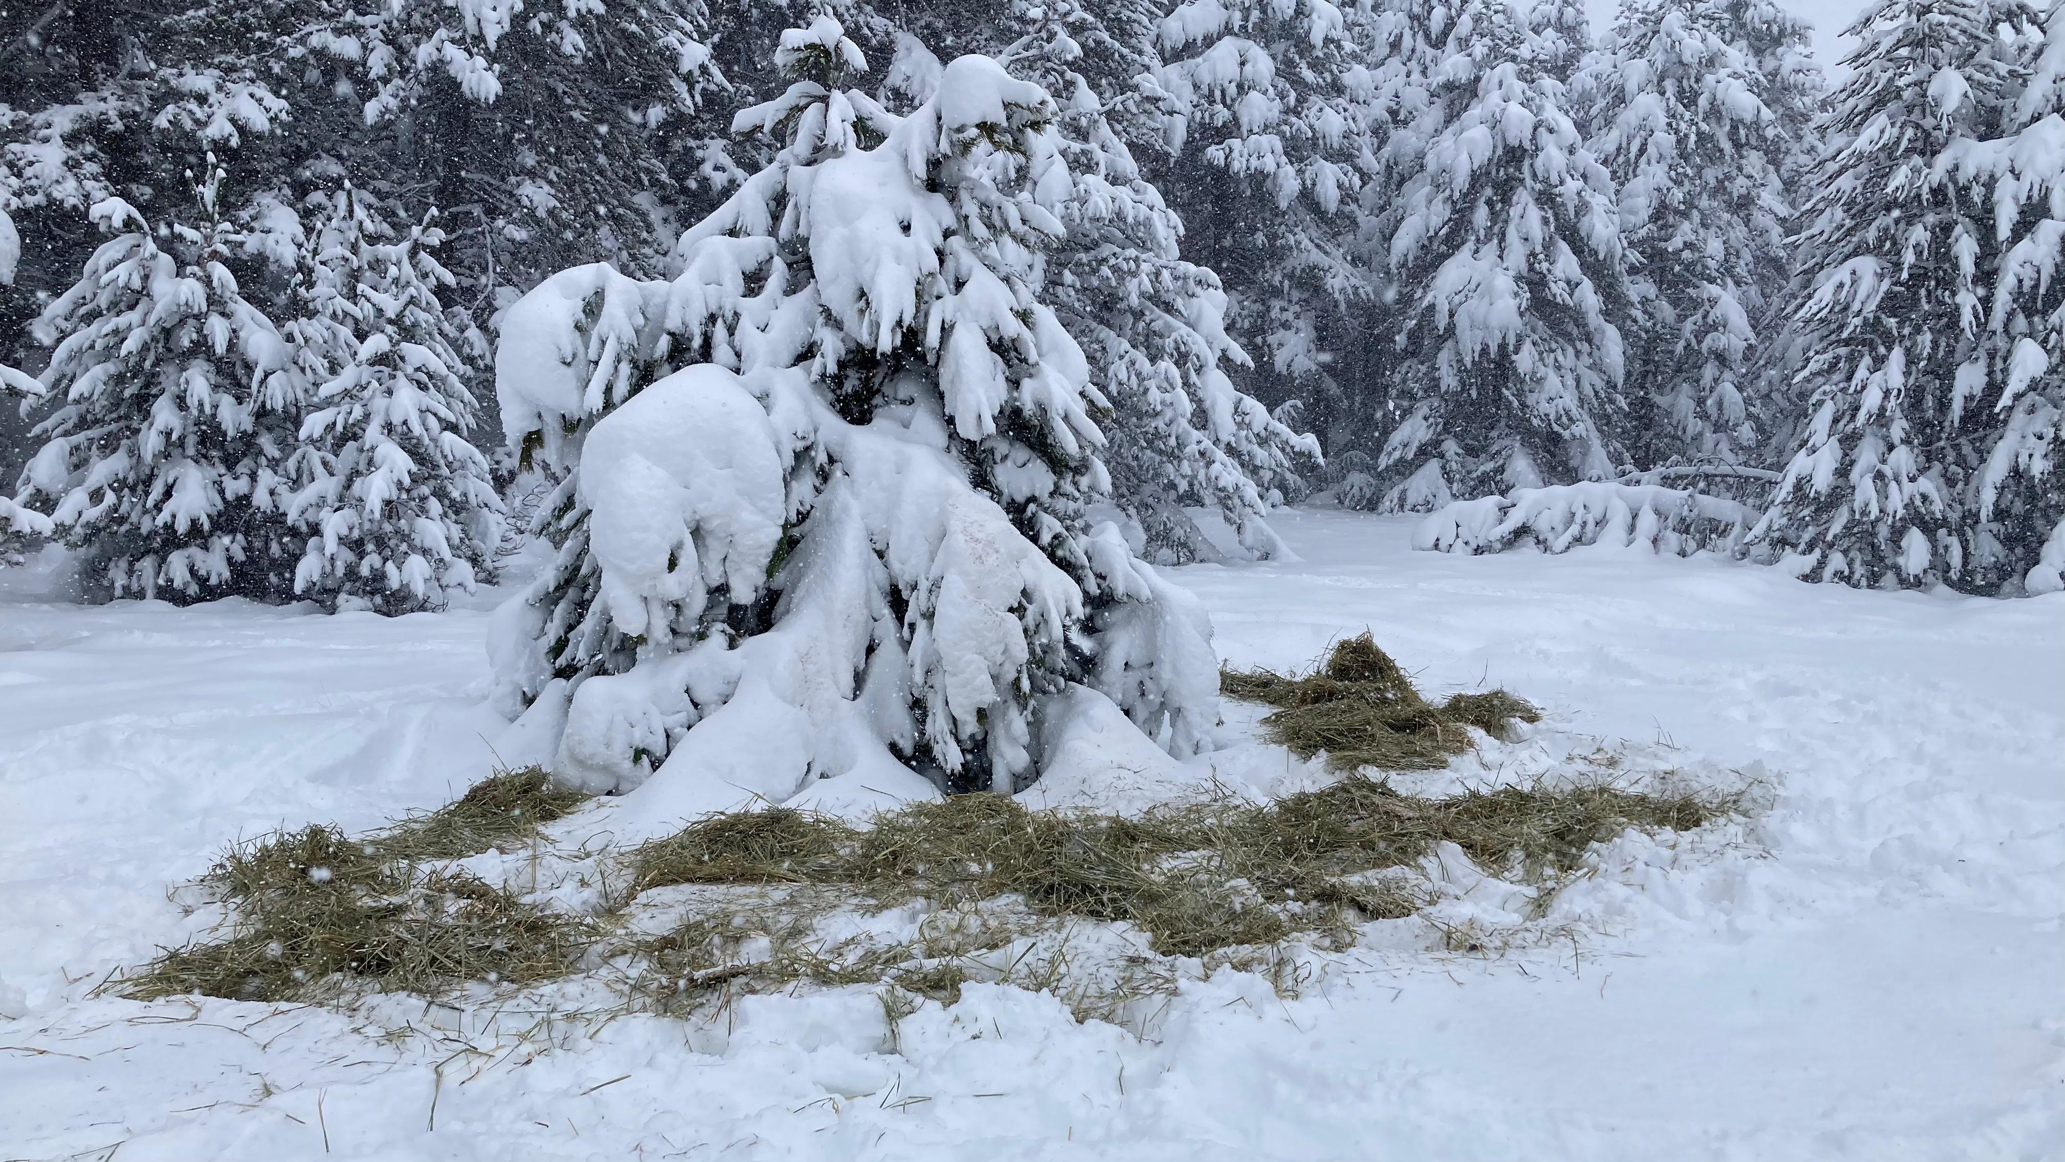
[(202, 879), (229, 908), (221, 939), (167, 949), (114, 986), (285, 1001), (566, 976), (595, 941), (591, 922), (436, 862), (529, 839), (572, 802), (543, 773), (512, 771), (363, 839), (310, 825), (237, 844)]

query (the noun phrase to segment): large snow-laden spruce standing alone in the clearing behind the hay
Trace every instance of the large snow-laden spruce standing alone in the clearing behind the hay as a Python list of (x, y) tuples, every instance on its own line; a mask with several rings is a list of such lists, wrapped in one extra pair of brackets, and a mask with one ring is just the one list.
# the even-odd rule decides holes
[(1105, 401), (1041, 298), (1053, 101), (962, 56), (898, 118), (840, 87), (865, 62), (828, 17), (776, 62), (735, 126), (781, 149), (673, 283), (566, 271), (504, 318), (510, 438), (578, 465), (562, 567), (496, 633), (527, 720), (564, 713), (555, 771), (659, 765), (681, 811), (911, 769), (1010, 792), (1109, 703), (1196, 751), (1210, 626), (1084, 519)]

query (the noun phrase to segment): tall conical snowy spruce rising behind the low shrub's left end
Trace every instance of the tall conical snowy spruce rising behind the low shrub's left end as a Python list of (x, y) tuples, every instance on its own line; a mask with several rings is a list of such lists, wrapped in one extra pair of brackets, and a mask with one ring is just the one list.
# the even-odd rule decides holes
[(1421, 145), (1386, 225), (1404, 323), (1377, 480), (1353, 500), (1429, 511), (1456, 496), (1600, 480), (1623, 463), (1625, 269), (1613, 184), (1563, 112), (1563, 83), (1505, 4), (1448, 37)]

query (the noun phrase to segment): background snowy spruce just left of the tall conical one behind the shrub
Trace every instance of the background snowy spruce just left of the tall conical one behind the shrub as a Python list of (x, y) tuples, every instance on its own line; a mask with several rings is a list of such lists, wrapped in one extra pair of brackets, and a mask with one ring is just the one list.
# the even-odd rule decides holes
[(1334, 449), (1369, 426), (1369, 308), (1357, 190), (1375, 74), (1365, 4), (1187, 0), (1158, 29), (1171, 155), (1142, 157), (1185, 225), (1185, 256), (1229, 279), (1253, 391), (1301, 401)]

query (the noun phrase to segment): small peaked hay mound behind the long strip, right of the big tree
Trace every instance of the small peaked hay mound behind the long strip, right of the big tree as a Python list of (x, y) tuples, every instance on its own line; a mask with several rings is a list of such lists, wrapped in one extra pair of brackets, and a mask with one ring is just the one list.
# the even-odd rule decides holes
[(1474, 746), (1470, 726), (1497, 736), (1507, 720), (1540, 722), (1540, 711), (1505, 691), (1429, 703), (1369, 633), (1334, 643), (1311, 674), (1220, 670), (1218, 686), (1231, 699), (1280, 707), (1262, 720), (1264, 736), (1301, 759), (1324, 751), (1338, 771), (1439, 769)]

